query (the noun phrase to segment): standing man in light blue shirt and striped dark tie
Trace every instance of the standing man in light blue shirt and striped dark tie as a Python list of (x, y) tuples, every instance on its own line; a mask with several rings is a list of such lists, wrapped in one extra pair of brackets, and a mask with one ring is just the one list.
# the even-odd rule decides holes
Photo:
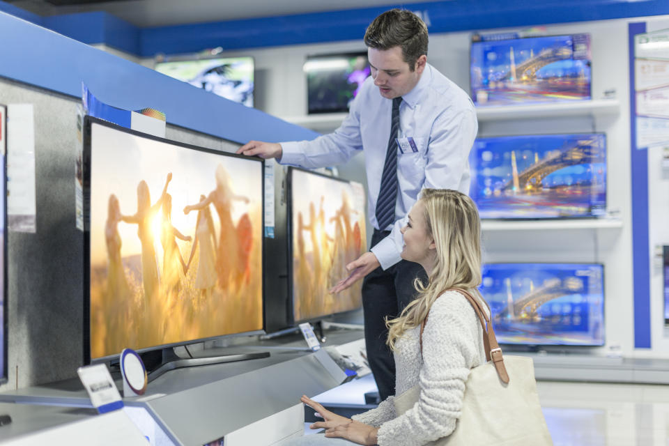
[(416, 15), (399, 9), (379, 15), (364, 43), (371, 77), (334, 133), (314, 141), (250, 141), (237, 153), (312, 169), (344, 164), (365, 151), (371, 248), (346, 266), (351, 275), (331, 291), (364, 277), (367, 358), (383, 400), (395, 393), (385, 318), (394, 318), (413, 300), (416, 277), (426, 284), (422, 267), (400, 258), (399, 229), (424, 187), (468, 193), (477, 121), (467, 93), (427, 63), (427, 27)]

